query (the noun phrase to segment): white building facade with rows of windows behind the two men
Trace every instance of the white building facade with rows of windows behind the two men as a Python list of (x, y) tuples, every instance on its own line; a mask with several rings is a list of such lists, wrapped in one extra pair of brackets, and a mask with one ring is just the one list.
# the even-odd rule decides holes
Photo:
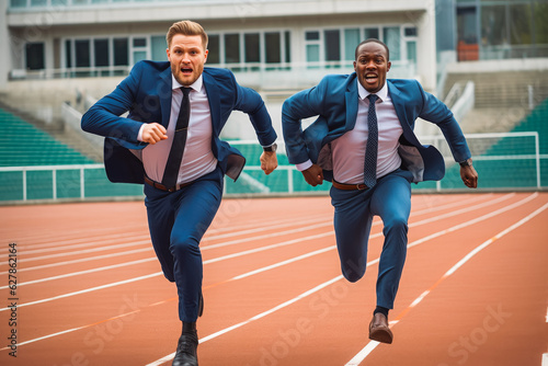
[(11, 79), (125, 75), (139, 59), (165, 59), (167, 30), (191, 19), (212, 38), (210, 66), (231, 68), (242, 84), (260, 90), (299, 89), (328, 72), (351, 72), (353, 48), (372, 34), (390, 47), (389, 77), (418, 78), (425, 89), (435, 88), (433, 0), (10, 0), (10, 5), (0, 31), (0, 42), (1, 32), (10, 42), (0, 45), (11, 57), (0, 67)]

